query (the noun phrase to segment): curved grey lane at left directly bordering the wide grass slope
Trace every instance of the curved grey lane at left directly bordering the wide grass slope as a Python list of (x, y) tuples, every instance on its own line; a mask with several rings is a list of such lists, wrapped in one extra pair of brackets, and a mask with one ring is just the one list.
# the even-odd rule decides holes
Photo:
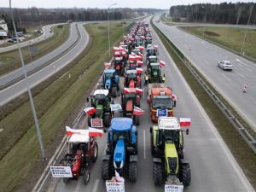
[[(73, 49), (68, 51), (66, 55), (61, 56), (61, 58), (59, 58), (57, 61), (51, 63), (49, 66), (44, 67), (37, 73), (33, 73), (31, 76), (28, 77), (31, 88), (44, 81), (45, 79), (48, 79), (52, 74), (61, 70), (62, 67), (67, 66), (69, 62), (73, 61), (73, 59), (77, 57), (83, 51), (83, 49), (85, 49), (89, 41), (88, 33), (85, 32), (84, 26), (82, 25), (79, 25), (79, 32), (81, 34), (81, 38), (79, 40), (79, 43)], [(0, 106), (6, 102), (9, 102), (10, 100), (14, 99), (16, 96), (19, 96), (25, 91), (25, 79), (20, 80), (18, 83), (11, 85), (4, 90), (0, 90)]]

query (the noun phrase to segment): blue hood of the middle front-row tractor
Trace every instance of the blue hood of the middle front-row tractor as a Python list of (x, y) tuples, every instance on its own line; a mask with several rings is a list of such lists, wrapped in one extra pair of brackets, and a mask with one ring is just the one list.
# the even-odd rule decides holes
[(115, 169), (122, 169), (125, 166), (125, 143), (119, 139), (113, 152), (113, 166)]

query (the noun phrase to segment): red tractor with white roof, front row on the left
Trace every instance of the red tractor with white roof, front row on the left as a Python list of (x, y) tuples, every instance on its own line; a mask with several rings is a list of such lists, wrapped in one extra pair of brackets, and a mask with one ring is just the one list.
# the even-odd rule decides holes
[[(84, 131), (86, 133), (88, 130)], [(88, 166), (95, 163), (98, 156), (96, 137), (89, 137), (88, 134), (73, 134), (67, 142), (67, 147), (67, 154), (64, 155), (59, 164), (54, 165), (70, 166), (72, 177), (63, 177), (63, 183), (67, 184), (71, 179), (83, 175), (84, 183), (87, 184), (90, 180)]]

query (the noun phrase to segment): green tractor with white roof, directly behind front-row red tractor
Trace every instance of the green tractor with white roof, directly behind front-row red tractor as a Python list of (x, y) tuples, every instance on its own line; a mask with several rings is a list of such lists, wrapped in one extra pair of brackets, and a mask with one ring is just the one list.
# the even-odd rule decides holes
[(95, 90), (93, 96), (87, 97), (89, 101), (91, 107), (96, 108), (96, 113), (88, 115), (88, 126), (109, 127), (112, 119), (110, 104), (113, 104), (113, 99), (108, 96), (108, 90)]

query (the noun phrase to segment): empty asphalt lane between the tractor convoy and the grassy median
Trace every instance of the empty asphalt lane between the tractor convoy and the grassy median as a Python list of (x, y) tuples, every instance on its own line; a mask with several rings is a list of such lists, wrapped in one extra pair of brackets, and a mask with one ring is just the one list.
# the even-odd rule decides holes
[(191, 118), (189, 136), (184, 136), (185, 158), (190, 162), (192, 174), (186, 191), (253, 191), (163, 45), (155, 35), (153, 39), (157, 40), (154, 44), (160, 45), (160, 59), (166, 61), (166, 67), (162, 68), (167, 74), (166, 85), (171, 86), (178, 97), (175, 115)]

